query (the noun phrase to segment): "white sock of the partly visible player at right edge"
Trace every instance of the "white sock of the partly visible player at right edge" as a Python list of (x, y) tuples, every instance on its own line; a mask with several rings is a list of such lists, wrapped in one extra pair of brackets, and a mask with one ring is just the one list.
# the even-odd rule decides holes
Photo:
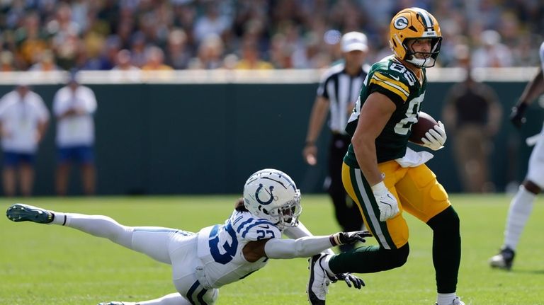
[(526, 190), (523, 185), (519, 186), (516, 196), (510, 203), (508, 217), (506, 218), (506, 229), (504, 229), (503, 246), (516, 250), (521, 232), (533, 209), (535, 198), (535, 194)]

